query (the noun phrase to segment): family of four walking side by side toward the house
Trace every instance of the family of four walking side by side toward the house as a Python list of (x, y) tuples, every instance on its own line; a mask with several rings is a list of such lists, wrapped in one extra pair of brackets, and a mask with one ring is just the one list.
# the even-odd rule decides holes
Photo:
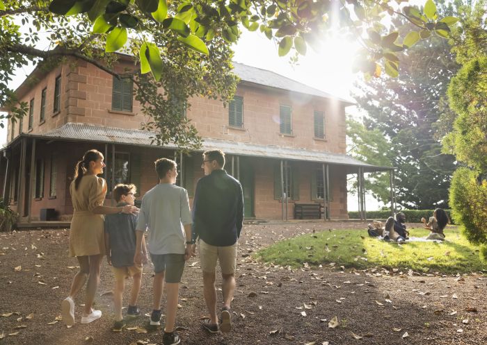
[[(102, 317), (94, 310), (93, 301), (99, 284), (102, 258), (107, 256), (115, 277), (115, 323), (112, 330), (125, 326), (122, 317), (122, 294), (125, 278), (133, 285), (127, 317), (138, 317), (138, 293), (141, 289), (143, 264), (150, 254), (154, 264), (153, 305), (150, 324), (161, 324), (161, 299), (166, 285), (166, 323), (163, 345), (181, 342), (175, 330), (179, 283), (186, 260), (195, 255), (196, 239), (200, 251), (204, 298), (209, 319), (202, 327), (209, 333), (230, 332), (232, 302), (237, 266), (237, 246), (244, 220), (244, 198), (241, 184), (223, 169), (225, 153), (206, 151), (202, 157), (205, 176), (198, 180), (189, 208), (187, 191), (175, 185), (177, 165), (161, 158), (154, 162), (159, 183), (142, 199), (141, 209), (134, 206), (134, 185), (116, 185), (113, 190), (118, 205), (104, 206), (106, 182), (97, 177), (105, 167), (104, 157), (97, 150), (83, 155), (76, 166), (70, 186), (74, 214), (70, 228), (70, 254), (79, 262), (79, 272), (72, 281), (70, 295), (61, 303), (63, 321), (74, 325), (74, 296), (86, 283), (86, 301), (81, 323)], [(102, 214), (106, 214), (104, 218)], [(138, 216), (137, 216), (138, 214)], [(144, 233), (149, 231), (148, 251)], [(216, 313), (215, 270), (219, 262), (223, 278), (223, 305), (220, 320)]]

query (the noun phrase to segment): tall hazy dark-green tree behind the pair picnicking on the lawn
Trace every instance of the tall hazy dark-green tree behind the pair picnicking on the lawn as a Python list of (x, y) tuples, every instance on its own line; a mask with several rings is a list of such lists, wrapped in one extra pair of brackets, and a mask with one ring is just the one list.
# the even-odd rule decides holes
[[(440, 4), (442, 15), (455, 15), (461, 5)], [(411, 24), (403, 19), (393, 22), (399, 35), (408, 35)], [(397, 202), (406, 208), (431, 209), (448, 207), (448, 188), (454, 171), (454, 157), (441, 153), (441, 140), (436, 131), (438, 118), (445, 111), (449, 79), (458, 70), (449, 44), (431, 37), (408, 49), (399, 58), (399, 78), (375, 78), (360, 85), (358, 105), (367, 112), (368, 131), (349, 133), (363, 140), (381, 133), (388, 149), (384, 154), (389, 165), (397, 167), (395, 185)], [(353, 128), (351, 128), (353, 130)], [(354, 139), (365, 158), (374, 158), (360, 140)], [(385, 184), (382, 183), (382, 185)], [(379, 185), (372, 185), (377, 193)], [(382, 192), (383, 194), (383, 192)]]

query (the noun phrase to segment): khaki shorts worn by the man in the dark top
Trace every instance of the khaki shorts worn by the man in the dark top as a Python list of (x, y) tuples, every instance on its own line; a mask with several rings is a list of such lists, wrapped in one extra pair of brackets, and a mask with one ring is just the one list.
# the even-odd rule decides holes
[(222, 274), (234, 274), (237, 267), (239, 242), (232, 246), (211, 246), (200, 239), (200, 264), (204, 272), (214, 272), (216, 261), (220, 262)]

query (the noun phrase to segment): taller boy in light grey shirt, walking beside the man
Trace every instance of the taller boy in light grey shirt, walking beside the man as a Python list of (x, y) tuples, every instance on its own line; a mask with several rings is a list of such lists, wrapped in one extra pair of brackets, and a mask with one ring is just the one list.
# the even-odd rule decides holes
[(174, 185), (177, 166), (173, 160), (161, 158), (154, 162), (159, 184), (147, 192), (141, 205), (137, 222), (137, 248), (134, 262), (143, 258), (143, 232), (150, 230), (149, 253), (154, 264), (153, 309), (151, 325), (161, 324), (161, 298), (166, 280), (166, 325), (162, 337), (163, 345), (181, 342), (174, 329), (179, 282), (184, 262), (191, 257), (191, 212), (188, 192)]

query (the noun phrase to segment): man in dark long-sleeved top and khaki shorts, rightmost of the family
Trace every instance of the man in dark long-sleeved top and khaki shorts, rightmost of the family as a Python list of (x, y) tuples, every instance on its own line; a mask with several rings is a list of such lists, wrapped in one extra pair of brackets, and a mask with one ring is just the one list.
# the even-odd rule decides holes
[[(235, 289), (237, 241), (244, 221), (244, 196), (238, 180), (223, 169), (225, 153), (220, 150), (203, 153), (205, 177), (198, 180), (193, 201), (193, 242), (199, 238), (200, 264), (203, 271), (205, 301), (210, 319), (203, 327), (210, 333), (232, 329), (230, 303)], [(193, 245), (193, 252), (196, 244)], [(216, 262), (223, 278), (221, 324), (216, 316)]]

